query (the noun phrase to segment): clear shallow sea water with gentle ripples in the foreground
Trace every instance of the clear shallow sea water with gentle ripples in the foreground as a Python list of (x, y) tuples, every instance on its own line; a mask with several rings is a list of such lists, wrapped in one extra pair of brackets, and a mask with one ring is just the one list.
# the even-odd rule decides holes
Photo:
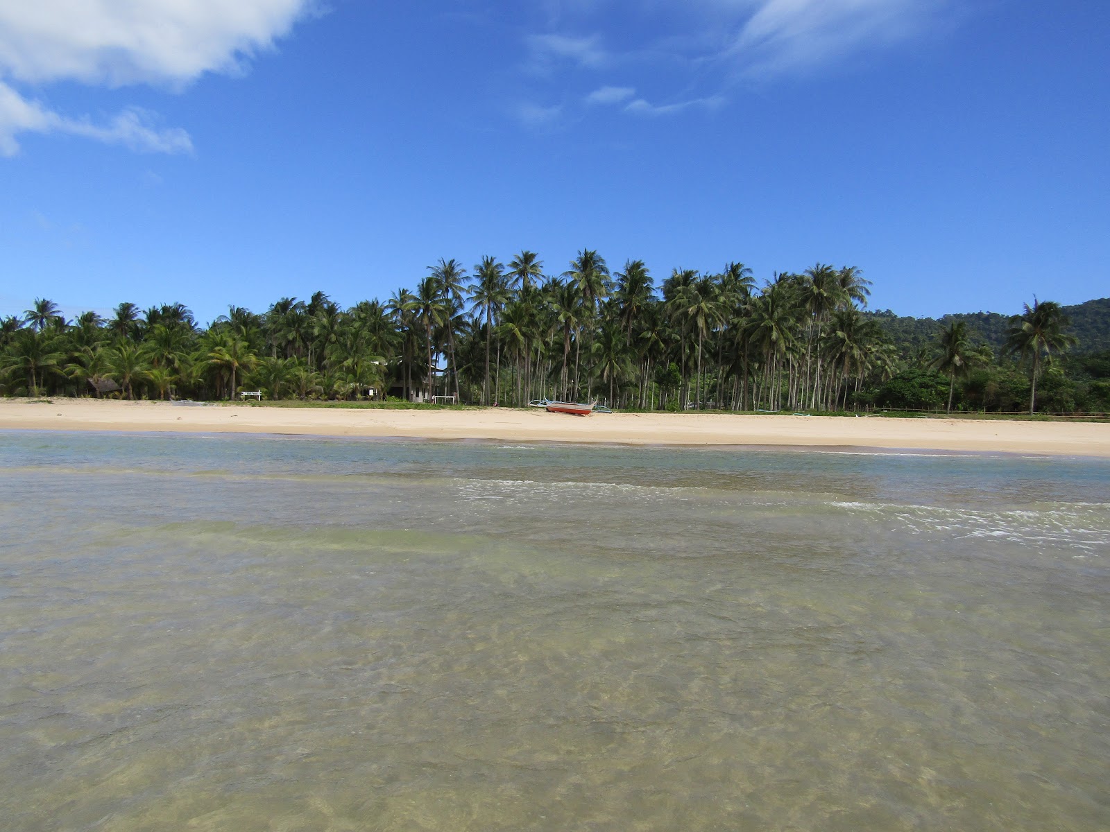
[(4, 830), (1106, 830), (1110, 460), (0, 434)]

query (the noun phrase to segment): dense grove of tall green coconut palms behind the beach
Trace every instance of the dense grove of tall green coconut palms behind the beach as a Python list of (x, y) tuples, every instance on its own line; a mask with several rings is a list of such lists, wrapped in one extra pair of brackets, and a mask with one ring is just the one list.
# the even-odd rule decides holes
[[(441, 260), (384, 303), (283, 297), (263, 314), (231, 307), (206, 328), (181, 304), (122, 303), (109, 319), (65, 321), (39, 300), (0, 321), (0, 389), (163, 399), (243, 389), (362, 399), (373, 389), (405, 400), (791, 412), (1005, 410), (1020, 398), (1032, 409), (1043, 405), (1038, 383), (1074, 342), (1060, 306), (1035, 302), (1012, 319), (1000, 355), (963, 323), (899, 355), (865, 312), (869, 285), (858, 268), (818, 264), (757, 286), (729, 263), (716, 274), (675, 268), (656, 287), (642, 261), (610, 273), (584, 250), (558, 276), (528, 251), (507, 265), (483, 257), (470, 274)], [(1097, 384), (1087, 404), (1101, 400)], [(1074, 396), (1068, 408), (1052, 404), (1076, 409)]]

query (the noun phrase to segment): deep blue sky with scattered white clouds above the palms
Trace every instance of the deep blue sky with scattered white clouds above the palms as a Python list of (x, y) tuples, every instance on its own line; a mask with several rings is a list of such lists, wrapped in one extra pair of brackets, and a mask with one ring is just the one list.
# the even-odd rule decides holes
[(1092, 0), (0, 0), (0, 314), (208, 322), (583, 247), (856, 265), (909, 315), (1079, 303), (1108, 68)]

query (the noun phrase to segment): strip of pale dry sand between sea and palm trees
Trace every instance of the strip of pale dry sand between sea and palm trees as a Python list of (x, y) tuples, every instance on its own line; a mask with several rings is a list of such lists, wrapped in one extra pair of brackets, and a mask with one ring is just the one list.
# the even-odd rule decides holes
[(593, 414), (541, 409), (389, 410), (167, 402), (0, 399), (0, 430), (129, 430), (319, 436), (788, 445), (1110, 457), (1110, 424), (731, 414)]

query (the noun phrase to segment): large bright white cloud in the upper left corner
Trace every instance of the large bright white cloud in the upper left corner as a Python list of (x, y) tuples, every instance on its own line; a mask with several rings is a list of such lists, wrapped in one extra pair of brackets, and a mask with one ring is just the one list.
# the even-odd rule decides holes
[(69, 133), (155, 153), (189, 152), (180, 128), (129, 108), (104, 124), (49, 110), (18, 87), (178, 88), (205, 72), (235, 71), (272, 48), (312, 0), (0, 0), (0, 154), (24, 132)]

